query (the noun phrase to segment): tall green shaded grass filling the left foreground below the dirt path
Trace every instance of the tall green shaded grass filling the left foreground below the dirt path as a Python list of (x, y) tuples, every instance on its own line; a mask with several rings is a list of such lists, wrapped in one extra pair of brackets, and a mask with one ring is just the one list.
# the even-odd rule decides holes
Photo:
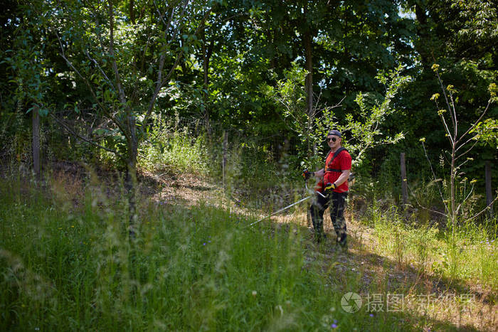
[(0, 183), (0, 330), (410, 328), (390, 314), (342, 311), (356, 275), (331, 277), (324, 261), (310, 262), (306, 229), (247, 227), (253, 220), (203, 203), (141, 204), (129, 242), (119, 195), (88, 186), (75, 208)]

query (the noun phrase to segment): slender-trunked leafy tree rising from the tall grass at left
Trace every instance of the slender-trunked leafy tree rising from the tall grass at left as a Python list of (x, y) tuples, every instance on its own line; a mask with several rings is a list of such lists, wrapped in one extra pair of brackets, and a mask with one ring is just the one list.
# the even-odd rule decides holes
[[(60, 56), (88, 96), (75, 96), (80, 107), (92, 109), (103, 122), (80, 134), (57, 121), (83, 141), (109, 151), (127, 169), (129, 232), (137, 223), (135, 191), (139, 142), (176, 68), (198, 45), (198, 33), (217, 1), (176, 0), (154, 4), (124, 1), (69, 1), (53, 5), (51, 28)], [(141, 6), (135, 16), (134, 6)], [(74, 104), (73, 104), (74, 105)], [(83, 106), (85, 105), (85, 106)], [(95, 129), (95, 130), (94, 130)]]

